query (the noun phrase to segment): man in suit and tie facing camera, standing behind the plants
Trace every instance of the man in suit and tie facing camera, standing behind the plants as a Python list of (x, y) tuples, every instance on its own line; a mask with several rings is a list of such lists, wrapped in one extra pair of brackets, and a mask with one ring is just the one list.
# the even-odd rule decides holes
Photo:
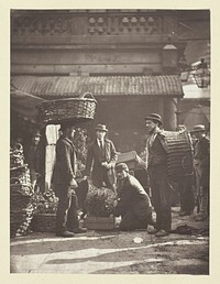
[(113, 142), (106, 139), (108, 129), (105, 124), (96, 128), (96, 140), (88, 149), (85, 177), (90, 176), (95, 186), (114, 189), (116, 174), (114, 165), (118, 154)]

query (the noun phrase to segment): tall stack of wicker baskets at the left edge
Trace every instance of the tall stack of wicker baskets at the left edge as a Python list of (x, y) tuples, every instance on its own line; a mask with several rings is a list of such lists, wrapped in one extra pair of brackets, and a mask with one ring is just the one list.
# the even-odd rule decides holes
[(10, 234), (28, 233), (33, 216), (30, 170), (24, 164), (23, 148), (15, 144), (10, 150)]

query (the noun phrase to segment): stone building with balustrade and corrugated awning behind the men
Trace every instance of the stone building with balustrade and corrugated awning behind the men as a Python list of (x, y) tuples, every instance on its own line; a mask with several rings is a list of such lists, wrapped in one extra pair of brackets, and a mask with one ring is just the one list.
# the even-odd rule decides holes
[(106, 123), (118, 151), (140, 152), (147, 113), (161, 113), (166, 130), (177, 123), (178, 31), (175, 10), (12, 10), (11, 85), (42, 99), (90, 91), (90, 136)]

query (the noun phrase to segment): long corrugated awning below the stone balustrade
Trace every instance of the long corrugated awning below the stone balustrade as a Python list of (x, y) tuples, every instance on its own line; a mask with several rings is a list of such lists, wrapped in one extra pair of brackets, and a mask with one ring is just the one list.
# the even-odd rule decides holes
[(166, 76), (14, 76), (13, 86), (24, 92), (45, 99), (78, 97), (85, 91), (96, 96), (172, 96), (183, 97), (178, 75)]

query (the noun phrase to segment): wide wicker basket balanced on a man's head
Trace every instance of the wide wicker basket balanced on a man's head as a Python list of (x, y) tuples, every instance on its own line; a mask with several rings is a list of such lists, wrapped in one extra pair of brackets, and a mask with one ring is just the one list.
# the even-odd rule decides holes
[(64, 121), (87, 121), (95, 117), (97, 101), (90, 92), (78, 98), (43, 101), (37, 106), (38, 120), (59, 124)]

